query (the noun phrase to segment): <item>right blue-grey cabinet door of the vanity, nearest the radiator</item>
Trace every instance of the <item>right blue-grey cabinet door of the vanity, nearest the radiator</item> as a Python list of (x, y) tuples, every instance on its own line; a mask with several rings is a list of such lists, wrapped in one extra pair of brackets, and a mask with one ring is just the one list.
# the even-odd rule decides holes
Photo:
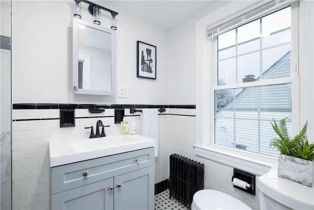
[(114, 177), (115, 210), (154, 210), (155, 166)]

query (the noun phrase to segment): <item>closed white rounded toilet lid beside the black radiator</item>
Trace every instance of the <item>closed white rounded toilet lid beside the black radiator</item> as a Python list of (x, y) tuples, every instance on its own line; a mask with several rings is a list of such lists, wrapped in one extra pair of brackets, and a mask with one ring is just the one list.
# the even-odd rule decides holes
[(194, 205), (200, 210), (251, 210), (234, 197), (216, 190), (200, 190), (193, 196)]

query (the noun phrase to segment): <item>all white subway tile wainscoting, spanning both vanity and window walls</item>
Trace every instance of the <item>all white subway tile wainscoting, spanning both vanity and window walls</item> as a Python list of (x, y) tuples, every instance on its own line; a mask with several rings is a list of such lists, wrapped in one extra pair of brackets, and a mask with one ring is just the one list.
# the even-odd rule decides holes
[[(126, 115), (129, 114), (126, 109)], [(158, 117), (159, 150), (155, 158), (155, 183), (169, 178), (169, 155), (177, 153), (205, 164), (205, 188), (225, 192), (247, 204), (252, 209), (260, 209), (259, 190), (252, 196), (233, 187), (233, 168), (208, 159), (195, 156), (193, 144), (196, 139), (195, 109), (166, 109)], [(167, 115), (169, 114), (169, 115)], [(136, 133), (141, 134), (139, 113), (126, 117), (136, 121)], [(184, 116), (182, 116), (184, 115)], [(76, 109), (75, 127), (59, 127), (59, 120), (38, 120), (59, 118), (59, 110), (12, 110), (12, 208), (14, 210), (48, 210), (50, 208), (49, 183), (49, 141), (68, 136), (88, 137), (97, 120), (105, 125), (106, 135), (119, 134), (120, 124), (114, 123), (114, 109), (105, 113), (91, 114), (87, 109)]]

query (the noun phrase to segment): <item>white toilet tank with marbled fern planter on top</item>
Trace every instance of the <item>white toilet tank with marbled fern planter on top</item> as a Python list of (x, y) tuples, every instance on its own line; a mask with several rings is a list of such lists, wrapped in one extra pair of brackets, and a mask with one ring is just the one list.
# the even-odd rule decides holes
[(314, 188), (279, 178), (277, 165), (259, 177), (261, 210), (314, 210)]

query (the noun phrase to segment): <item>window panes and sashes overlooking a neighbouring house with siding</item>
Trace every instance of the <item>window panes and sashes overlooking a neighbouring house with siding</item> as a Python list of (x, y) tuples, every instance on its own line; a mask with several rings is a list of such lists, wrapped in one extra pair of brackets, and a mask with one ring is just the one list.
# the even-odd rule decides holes
[(277, 138), (270, 122), (290, 117), (291, 132), (293, 120), (291, 18), (288, 6), (233, 28), (226, 24), (224, 32), (209, 30), (216, 145), (278, 156), (269, 148)]

